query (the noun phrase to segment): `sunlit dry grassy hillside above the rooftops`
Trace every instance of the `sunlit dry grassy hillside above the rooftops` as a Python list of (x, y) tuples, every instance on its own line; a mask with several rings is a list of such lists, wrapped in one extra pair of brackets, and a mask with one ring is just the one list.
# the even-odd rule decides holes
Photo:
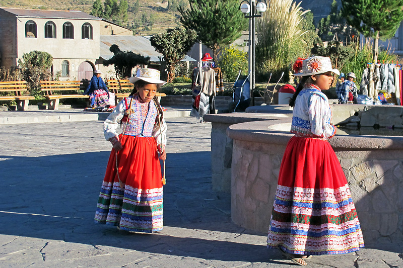
[[(90, 13), (95, 0), (0, 0), (0, 7), (20, 9), (44, 9), (44, 10), (79, 10)], [(103, 2), (103, 1), (102, 1)], [(118, 0), (119, 2), (119, 0)], [(125, 22), (114, 21), (127, 28), (133, 28), (135, 34), (151, 35), (162, 33), (167, 28), (180, 25), (178, 13), (168, 12), (166, 0), (141, 0), (138, 12), (132, 12), (131, 7), (136, 0), (128, 0), (128, 20)], [(148, 23), (147, 23), (148, 22)]]

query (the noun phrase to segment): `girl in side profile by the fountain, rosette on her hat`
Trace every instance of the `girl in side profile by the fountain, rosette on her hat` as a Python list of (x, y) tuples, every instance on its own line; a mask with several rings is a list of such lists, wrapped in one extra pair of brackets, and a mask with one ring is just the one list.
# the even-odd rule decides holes
[(267, 247), (306, 265), (310, 255), (341, 254), (364, 247), (346, 176), (327, 139), (334, 136), (327, 97), (333, 74), (328, 57), (303, 61), (290, 106), (291, 132), (280, 167)]

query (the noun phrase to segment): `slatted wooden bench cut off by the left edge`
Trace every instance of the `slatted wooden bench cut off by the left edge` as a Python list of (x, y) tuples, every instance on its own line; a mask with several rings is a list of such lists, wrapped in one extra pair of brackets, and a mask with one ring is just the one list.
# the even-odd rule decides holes
[(35, 100), (35, 97), (23, 95), (27, 91), (26, 81), (8, 81), (0, 82), (0, 92), (13, 93), (10, 96), (0, 96), (0, 101), (16, 101), (18, 111), (26, 111), (28, 109), (29, 100)]

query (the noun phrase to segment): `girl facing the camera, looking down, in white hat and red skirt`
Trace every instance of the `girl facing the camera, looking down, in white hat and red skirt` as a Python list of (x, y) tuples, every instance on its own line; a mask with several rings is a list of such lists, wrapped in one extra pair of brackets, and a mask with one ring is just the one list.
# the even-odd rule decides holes
[[(95, 222), (136, 232), (162, 230), (163, 182), (158, 159), (166, 159), (166, 124), (156, 93), (165, 84), (160, 72), (141, 68), (132, 94), (104, 123), (113, 145), (98, 199)], [(123, 133), (116, 129), (121, 122)]]

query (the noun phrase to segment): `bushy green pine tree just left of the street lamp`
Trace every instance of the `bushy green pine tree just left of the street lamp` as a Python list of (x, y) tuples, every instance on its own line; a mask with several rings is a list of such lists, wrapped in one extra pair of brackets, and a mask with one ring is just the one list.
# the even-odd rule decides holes
[(180, 22), (187, 30), (194, 30), (197, 39), (213, 50), (214, 59), (224, 45), (241, 36), (248, 20), (239, 10), (237, 0), (188, 0), (190, 9), (178, 8)]

